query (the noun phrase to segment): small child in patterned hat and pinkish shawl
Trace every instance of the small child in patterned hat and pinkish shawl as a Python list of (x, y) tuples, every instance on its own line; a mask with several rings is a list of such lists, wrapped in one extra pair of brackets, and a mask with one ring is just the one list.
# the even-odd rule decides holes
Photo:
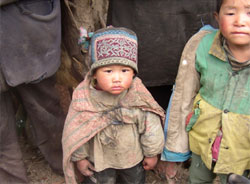
[(104, 28), (91, 38), (91, 69), (75, 89), (63, 131), (66, 183), (144, 183), (164, 147), (164, 111), (136, 77), (137, 37)]

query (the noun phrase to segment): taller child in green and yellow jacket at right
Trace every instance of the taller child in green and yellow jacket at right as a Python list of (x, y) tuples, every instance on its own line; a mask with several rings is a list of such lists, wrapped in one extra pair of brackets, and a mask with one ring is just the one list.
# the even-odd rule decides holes
[(162, 160), (183, 162), (192, 152), (190, 183), (216, 175), (226, 183), (250, 169), (250, 0), (217, 5), (219, 30), (204, 27), (184, 48), (165, 123)]

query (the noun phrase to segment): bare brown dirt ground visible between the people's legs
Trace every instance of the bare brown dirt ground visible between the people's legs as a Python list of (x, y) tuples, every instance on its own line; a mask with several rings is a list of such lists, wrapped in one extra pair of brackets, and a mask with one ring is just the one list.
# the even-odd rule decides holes
[[(20, 136), (20, 145), (23, 152), (23, 160), (27, 168), (30, 184), (65, 184), (63, 176), (57, 175), (49, 167), (39, 149), (32, 146)], [(187, 183), (188, 171), (184, 170), (177, 184)], [(153, 171), (146, 173), (146, 184), (167, 184), (167, 180), (155, 174)]]

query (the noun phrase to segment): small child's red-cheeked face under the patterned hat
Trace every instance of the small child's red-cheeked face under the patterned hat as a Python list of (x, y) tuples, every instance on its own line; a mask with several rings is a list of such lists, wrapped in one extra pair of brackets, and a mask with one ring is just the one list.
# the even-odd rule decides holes
[(113, 95), (127, 90), (133, 81), (134, 70), (128, 66), (110, 65), (100, 67), (94, 74), (96, 87)]

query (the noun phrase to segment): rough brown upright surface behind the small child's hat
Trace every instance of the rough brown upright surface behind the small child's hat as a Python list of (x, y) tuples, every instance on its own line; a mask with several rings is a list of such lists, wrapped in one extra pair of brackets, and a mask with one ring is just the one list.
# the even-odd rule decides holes
[(106, 26), (108, 0), (63, 0), (62, 64), (57, 71), (57, 88), (61, 105), (67, 113), (74, 88), (89, 69), (88, 55), (78, 45), (79, 28), (92, 32)]

